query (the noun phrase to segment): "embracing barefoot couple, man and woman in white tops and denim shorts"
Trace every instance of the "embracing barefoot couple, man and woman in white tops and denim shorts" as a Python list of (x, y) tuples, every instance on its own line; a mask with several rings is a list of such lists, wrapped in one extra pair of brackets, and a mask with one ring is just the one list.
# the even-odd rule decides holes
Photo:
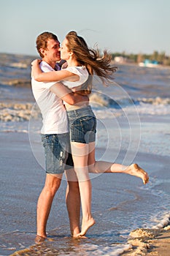
[(95, 159), (96, 116), (88, 96), (93, 75), (107, 83), (116, 71), (109, 53), (105, 50), (101, 57), (75, 31), (70, 31), (61, 45), (55, 34), (39, 34), (36, 49), (42, 59), (32, 62), (31, 83), (42, 112), (46, 166), (45, 186), (37, 203), (36, 242), (47, 238), (47, 219), (64, 171), (71, 235), (81, 238), (95, 224), (89, 173), (127, 173), (142, 178), (144, 184), (149, 177), (139, 165), (125, 166)]

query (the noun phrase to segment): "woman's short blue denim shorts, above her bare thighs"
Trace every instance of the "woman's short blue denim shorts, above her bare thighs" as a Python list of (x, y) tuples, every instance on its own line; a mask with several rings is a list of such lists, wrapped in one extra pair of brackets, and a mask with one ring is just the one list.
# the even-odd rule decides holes
[(90, 106), (67, 111), (70, 140), (90, 143), (96, 140), (96, 116)]

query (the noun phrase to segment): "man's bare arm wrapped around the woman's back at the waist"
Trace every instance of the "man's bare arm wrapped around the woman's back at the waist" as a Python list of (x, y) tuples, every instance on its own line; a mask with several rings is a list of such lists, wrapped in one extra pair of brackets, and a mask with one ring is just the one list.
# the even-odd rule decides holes
[[(88, 97), (72, 92), (69, 88), (63, 85), (63, 83), (55, 83), (50, 87), (50, 91), (57, 95), (60, 99), (63, 99), (69, 105), (82, 105), (86, 103), (88, 105)], [(80, 104), (79, 104), (80, 103)]]

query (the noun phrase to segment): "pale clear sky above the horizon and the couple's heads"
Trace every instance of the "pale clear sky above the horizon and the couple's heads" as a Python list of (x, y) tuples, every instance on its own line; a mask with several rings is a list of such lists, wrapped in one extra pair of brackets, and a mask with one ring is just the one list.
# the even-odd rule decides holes
[(77, 31), (91, 48), (170, 56), (169, 0), (0, 0), (0, 24), (0, 53), (35, 56), (42, 32)]

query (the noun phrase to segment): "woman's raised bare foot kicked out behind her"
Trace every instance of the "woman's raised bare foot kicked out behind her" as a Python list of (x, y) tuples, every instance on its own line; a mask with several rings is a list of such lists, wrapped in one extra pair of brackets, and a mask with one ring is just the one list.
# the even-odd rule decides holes
[(130, 165), (126, 170), (125, 173), (128, 173), (130, 175), (142, 178), (142, 181), (144, 184), (147, 184), (149, 181), (148, 174), (137, 164)]

